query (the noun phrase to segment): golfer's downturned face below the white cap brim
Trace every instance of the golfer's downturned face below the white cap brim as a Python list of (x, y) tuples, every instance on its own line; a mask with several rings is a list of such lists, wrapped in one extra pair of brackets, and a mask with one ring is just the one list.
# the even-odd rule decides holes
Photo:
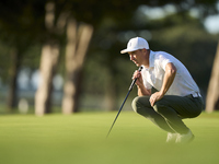
[(136, 63), (137, 67), (140, 67), (142, 65), (145, 60), (143, 49), (129, 51), (128, 54), (129, 54), (130, 60), (134, 61), (134, 63)]

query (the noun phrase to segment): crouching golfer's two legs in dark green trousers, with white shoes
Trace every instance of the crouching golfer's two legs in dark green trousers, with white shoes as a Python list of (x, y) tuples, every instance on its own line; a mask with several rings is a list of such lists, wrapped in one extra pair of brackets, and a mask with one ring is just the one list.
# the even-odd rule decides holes
[(177, 134), (178, 141), (176, 140), (176, 142), (184, 140), (184, 137), (187, 138), (187, 133), (194, 137), (182, 121), (182, 118), (197, 117), (201, 113), (203, 101), (200, 97), (164, 96), (155, 103), (153, 108), (150, 105), (149, 98), (149, 96), (136, 97), (132, 102), (132, 108), (161, 129), (168, 131), (169, 136), (166, 141), (173, 140), (176, 133), (181, 133)]

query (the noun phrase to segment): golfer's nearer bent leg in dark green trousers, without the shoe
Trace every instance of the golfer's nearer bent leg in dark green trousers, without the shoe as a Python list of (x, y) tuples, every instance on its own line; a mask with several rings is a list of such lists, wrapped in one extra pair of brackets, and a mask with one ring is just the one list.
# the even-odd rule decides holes
[(165, 118), (169, 126), (177, 133), (187, 133), (189, 129), (184, 125), (182, 118), (197, 117), (203, 109), (199, 97), (165, 95), (155, 102), (154, 110)]

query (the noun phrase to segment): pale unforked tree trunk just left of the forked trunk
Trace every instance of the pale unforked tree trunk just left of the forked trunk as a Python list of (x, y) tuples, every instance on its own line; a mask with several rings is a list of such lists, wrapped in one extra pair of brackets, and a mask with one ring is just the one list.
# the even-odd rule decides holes
[(53, 35), (47, 38), (47, 43), (42, 48), (41, 83), (35, 95), (35, 114), (39, 116), (51, 113), (53, 78), (59, 58), (59, 44), (56, 35), (60, 28), (58, 23), (57, 27), (55, 26), (55, 3), (53, 1), (47, 2), (45, 9), (45, 26), (48, 34)]

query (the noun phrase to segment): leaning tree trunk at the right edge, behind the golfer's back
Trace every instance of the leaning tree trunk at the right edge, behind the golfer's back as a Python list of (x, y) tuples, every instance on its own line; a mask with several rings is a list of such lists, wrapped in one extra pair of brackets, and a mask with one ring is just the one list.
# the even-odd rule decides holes
[(219, 109), (219, 43), (206, 98), (206, 112), (211, 113), (215, 109)]

